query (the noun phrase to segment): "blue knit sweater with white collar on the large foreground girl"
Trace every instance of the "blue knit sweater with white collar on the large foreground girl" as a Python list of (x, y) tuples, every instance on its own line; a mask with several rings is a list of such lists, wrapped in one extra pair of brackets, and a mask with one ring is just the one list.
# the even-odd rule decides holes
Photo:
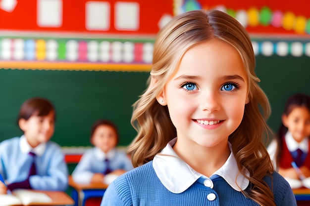
[[(239, 173), (233, 153), (221, 168), (207, 177), (177, 156), (172, 149), (175, 142), (176, 138), (171, 140), (153, 161), (112, 182), (101, 206), (258, 206), (241, 192), (249, 190), (250, 184)], [(287, 181), (277, 172), (272, 177), (263, 180), (270, 188), (272, 185), (276, 205), (297, 206)]]

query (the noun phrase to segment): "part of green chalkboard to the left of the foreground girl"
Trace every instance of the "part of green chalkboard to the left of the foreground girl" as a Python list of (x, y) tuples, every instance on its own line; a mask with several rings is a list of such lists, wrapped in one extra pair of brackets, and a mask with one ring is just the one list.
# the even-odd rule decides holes
[(147, 72), (46, 71), (0, 69), (0, 141), (19, 136), (16, 124), (21, 104), (40, 96), (56, 109), (52, 140), (61, 146), (90, 146), (95, 120), (113, 121), (120, 146), (128, 145), (136, 131), (130, 124), (132, 104), (146, 89)]

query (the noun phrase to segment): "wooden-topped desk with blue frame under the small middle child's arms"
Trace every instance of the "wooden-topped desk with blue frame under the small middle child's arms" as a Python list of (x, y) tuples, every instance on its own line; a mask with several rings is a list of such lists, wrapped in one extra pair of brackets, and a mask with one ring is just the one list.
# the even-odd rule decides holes
[[(72, 188), (71, 197), (75, 202), (74, 206), (85, 206), (85, 203), (89, 198), (102, 198), (108, 185), (98, 182), (79, 184), (73, 180), (71, 175), (69, 175), (69, 186)], [(83, 197), (79, 196), (81, 193), (83, 194)]]

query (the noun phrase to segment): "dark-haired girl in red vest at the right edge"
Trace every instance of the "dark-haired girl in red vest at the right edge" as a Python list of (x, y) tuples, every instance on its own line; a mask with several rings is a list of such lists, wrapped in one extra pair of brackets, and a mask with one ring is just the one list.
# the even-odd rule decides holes
[(275, 168), (292, 188), (301, 187), (300, 180), (310, 177), (310, 96), (294, 94), (287, 99), (275, 137), (268, 146)]

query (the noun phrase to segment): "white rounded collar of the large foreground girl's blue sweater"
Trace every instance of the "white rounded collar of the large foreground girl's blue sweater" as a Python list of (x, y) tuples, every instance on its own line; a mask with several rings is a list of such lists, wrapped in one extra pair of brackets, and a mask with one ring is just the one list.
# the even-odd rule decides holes
[[(172, 149), (176, 140), (177, 138), (171, 140), (160, 153), (155, 155), (153, 167), (161, 183), (170, 192), (182, 193), (204, 175), (195, 171), (177, 156)], [(228, 144), (231, 150), (231, 144)], [(246, 170), (246, 174), (249, 176), (249, 171)], [(249, 180), (239, 173), (233, 153), (230, 153), (225, 164), (215, 171), (210, 179), (215, 178), (216, 175), (223, 177), (225, 181), (237, 191), (245, 190), (249, 185)]]

